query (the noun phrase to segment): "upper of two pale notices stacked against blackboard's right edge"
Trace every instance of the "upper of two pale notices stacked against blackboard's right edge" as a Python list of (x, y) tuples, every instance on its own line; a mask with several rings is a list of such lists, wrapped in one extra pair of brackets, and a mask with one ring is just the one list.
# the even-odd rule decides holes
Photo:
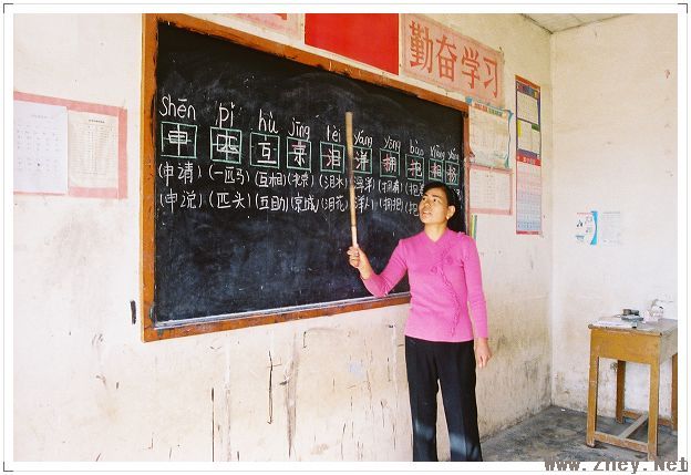
[(466, 100), (468, 107), (472, 162), (494, 168), (508, 168), (508, 123), (510, 112)]

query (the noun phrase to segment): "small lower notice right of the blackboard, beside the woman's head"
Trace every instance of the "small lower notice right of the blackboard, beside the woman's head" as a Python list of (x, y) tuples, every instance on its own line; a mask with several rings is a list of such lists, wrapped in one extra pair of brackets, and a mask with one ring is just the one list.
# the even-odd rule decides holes
[(471, 213), (512, 214), (512, 174), (471, 165)]

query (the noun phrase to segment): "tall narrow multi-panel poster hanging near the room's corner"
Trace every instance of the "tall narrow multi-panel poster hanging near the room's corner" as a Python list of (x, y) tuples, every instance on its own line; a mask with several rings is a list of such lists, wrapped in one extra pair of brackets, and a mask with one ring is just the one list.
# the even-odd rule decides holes
[(516, 76), (516, 234), (543, 231), (540, 87)]

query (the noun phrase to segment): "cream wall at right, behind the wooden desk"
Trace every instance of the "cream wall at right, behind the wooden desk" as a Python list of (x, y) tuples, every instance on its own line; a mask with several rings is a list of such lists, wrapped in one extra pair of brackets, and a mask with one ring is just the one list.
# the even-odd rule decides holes
[[(619, 17), (553, 42), (553, 400), (585, 411), (588, 323), (656, 298), (678, 318), (677, 17)], [(590, 210), (621, 214), (620, 245), (576, 242), (576, 214)], [(627, 406), (647, 411), (648, 366), (628, 363), (626, 378)], [(615, 412), (615, 383), (616, 362), (601, 360), (601, 414)]]

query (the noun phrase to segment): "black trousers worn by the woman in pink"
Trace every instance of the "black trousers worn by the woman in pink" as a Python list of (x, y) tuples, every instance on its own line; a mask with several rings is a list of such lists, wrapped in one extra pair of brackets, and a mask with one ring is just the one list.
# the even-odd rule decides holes
[(413, 421), (413, 461), (436, 462), (436, 393), (442, 386), (452, 462), (482, 462), (473, 341), (447, 343), (405, 337)]

